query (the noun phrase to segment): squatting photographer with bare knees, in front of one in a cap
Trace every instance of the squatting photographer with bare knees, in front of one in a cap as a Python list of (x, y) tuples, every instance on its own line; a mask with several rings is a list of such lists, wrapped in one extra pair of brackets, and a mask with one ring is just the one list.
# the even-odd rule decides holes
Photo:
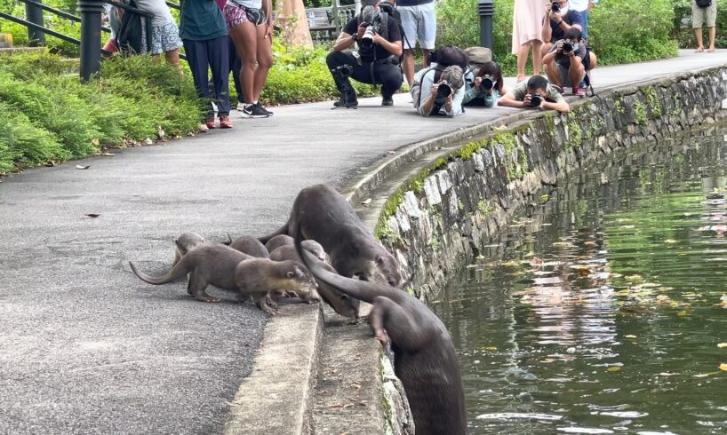
[(572, 88), (573, 95), (585, 95), (586, 91), (579, 86), (586, 72), (595, 67), (595, 54), (580, 41), (580, 30), (569, 28), (565, 38), (556, 42), (553, 48), (543, 56), (543, 65), (551, 83)]

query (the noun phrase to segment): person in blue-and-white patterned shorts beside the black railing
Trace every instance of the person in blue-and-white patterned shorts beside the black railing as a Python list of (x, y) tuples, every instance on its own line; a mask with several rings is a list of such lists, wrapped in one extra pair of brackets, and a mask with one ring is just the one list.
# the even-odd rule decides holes
[(182, 42), (180, 39), (180, 28), (169, 11), (169, 6), (164, 0), (134, 0), (136, 7), (141, 12), (148, 12), (153, 15), (151, 19), (151, 47), (147, 46), (146, 26), (142, 26), (141, 46), (143, 52), (151, 53), (152, 56), (158, 56), (164, 53), (167, 62), (177, 67), (181, 73), (180, 67), (180, 48)]

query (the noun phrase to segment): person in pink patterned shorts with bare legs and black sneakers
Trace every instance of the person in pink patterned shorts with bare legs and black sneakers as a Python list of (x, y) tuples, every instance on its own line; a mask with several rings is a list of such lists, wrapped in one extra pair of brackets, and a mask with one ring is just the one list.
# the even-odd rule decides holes
[(225, 5), (228, 32), (242, 59), (244, 118), (267, 118), (273, 113), (260, 104), (260, 92), (273, 67), (272, 0), (228, 0)]

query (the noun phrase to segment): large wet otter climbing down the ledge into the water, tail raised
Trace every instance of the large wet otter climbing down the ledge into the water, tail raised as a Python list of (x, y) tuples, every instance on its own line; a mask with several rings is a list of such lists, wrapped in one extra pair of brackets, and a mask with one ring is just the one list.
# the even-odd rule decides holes
[(316, 280), (373, 305), (369, 322), (381, 344), (391, 343), (396, 376), (409, 399), (417, 435), (467, 433), (467, 409), (457, 354), (442, 320), (416, 297), (386, 284), (352, 280), (324, 269), (296, 248)]

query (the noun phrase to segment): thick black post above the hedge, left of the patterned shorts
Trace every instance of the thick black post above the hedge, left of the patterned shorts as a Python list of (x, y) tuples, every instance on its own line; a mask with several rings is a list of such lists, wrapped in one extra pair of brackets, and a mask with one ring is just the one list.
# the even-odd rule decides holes
[(88, 82), (101, 67), (101, 12), (100, 0), (78, 0), (81, 12), (81, 81)]

